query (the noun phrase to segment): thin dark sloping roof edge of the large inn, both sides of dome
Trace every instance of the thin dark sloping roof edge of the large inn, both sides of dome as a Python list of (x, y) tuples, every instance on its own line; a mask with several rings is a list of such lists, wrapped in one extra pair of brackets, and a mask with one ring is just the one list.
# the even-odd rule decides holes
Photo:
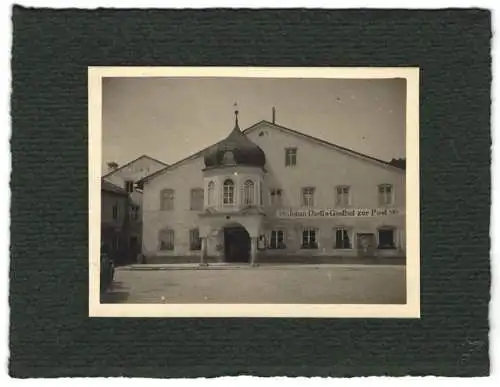
[[(306, 138), (310, 141), (314, 141), (316, 143), (319, 143), (319, 144), (322, 144), (322, 145), (325, 145), (325, 146), (328, 146), (330, 148), (333, 148), (333, 149), (337, 149), (339, 151), (342, 151), (344, 153), (348, 153), (348, 154), (351, 154), (351, 155), (354, 155), (354, 156), (357, 156), (357, 157), (361, 157), (361, 158), (364, 158), (364, 159), (367, 159), (367, 160), (370, 160), (370, 161), (373, 161), (373, 162), (376, 162), (376, 163), (379, 163), (379, 164), (382, 164), (382, 165), (385, 165), (387, 167), (390, 167), (390, 168), (393, 168), (393, 169), (396, 169), (396, 170), (404, 170), (404, 168), (401, 168), (400, 166), (398, 165), (394, 165), (390, 162), (387, 162), (387, 161), (384, 161), (384, 160), (381, 160), (381, 159), (377, 159), (375, 157), (372, 157), (372, 156), (368, 156), (368, 155), (365, 155), (363, 153), (360, 153), (360, 152), (356, 152), (352, 149), (349, 149), (349, 148), (344, 148), (340, 145), (336, 145), (336, 144), (333, 144), (331, 142), (328, 142), (328, 141), (325, 141), (325, 140), (322, 140), (320, 138), (317, 138), (317, 137), (314, 137), (314, 136), (310, 136), (308, 134), (304, 134), (302, 132), (299, 132), (297, 130), (294, 130), (294, 129), (290, 129), (290, 128), (287, 128), (285, 126), (281, 126), (281, 125), (277, 125), (277, 124), (273, 124), (272, 122), (269, 122), (269, 121), (266, 121), (266, 120), (262, 120), (262, 121), (259, 121), (257, 122), (256, 124), (250, 126), (249, 128), (243, 130), (243, 133), (244, 134), (247, 134), (247, 133), (250, 133), (251, 131), (253, 130), (256, 130), (258, 128), (260, 128), (263, 124), (266, 124), (268, 126), (271, 126), (271, 127), (274, 127), (276, 129), (279, 129), (283, 132), (287, 132), (287, 133), (292, 133), (292, 134), (295, 134), (297, 136), (300, 136), (300, 137), (303, 137), (303, 138)], [(139, 180), (139, 183), (140, 184), (144, 184), (145, 182), (147, 181), (150, 181), (152, 179), (154, 179), (155, 177), (157, 177), (158, 175), (162, 174), (163, 172), (166, 172), (170, 169), (173, 169), (175, 168), (176, 166), (180, 165), (181, 163), (185, 162), (185, 161), (188, 161), (188, 160), (192, 160), (192, 159), (195, 159), (196, 157), (200, 156), (201, 154), (203, 154), (203, 152), (207, 151), (208, 149), (210, 149), (211, 147), (213, 146), (216, 146), (218, 144), (220, 144), (221, 142), (223, 142), (224, 139), (216, 142), (215, 144), (212, 144), (210, 146), (207, 146), (206, 148), (203, 148), (202, 150), (196, 152), (196, 153), (193, 153), (179, 161), (177, 161), (176, 163), (174, 164), (171, 164), (171, 165), (168, 165), (166, 166), (165, 168), (162, 168), (162, 169), (159, 169), (158, 171), (152, 173), (151, 175), (148, 175), (148, 176), (145, 176), (143, 177), (141, 180)]]

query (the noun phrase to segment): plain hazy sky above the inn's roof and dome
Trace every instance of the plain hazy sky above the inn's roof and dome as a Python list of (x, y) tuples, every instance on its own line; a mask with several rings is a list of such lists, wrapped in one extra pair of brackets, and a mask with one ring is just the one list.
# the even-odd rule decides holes
[(143, 154), (167, 164), (276, 123), (382, 160), (405, 157), (404, 79), (104, 78), (103, 168)]

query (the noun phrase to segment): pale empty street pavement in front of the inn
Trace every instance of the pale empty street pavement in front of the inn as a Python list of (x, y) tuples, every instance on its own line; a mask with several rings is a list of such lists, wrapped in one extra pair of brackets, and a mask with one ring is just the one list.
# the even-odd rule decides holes
[[(159, 270), (158, 270), (159, 269)], [(405, 304), (404, 265), (118, 268), (104, 303)]]

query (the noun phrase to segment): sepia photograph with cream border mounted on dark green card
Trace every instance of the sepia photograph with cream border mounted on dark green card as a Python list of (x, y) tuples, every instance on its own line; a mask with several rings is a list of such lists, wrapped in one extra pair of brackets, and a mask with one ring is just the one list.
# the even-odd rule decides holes
[(91, 68), (89, 126), (91, 315), (419, 317), (418, 69)]

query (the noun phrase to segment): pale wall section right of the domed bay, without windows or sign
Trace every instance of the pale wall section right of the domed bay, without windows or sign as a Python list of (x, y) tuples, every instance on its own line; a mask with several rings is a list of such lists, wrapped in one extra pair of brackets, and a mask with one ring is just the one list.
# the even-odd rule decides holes
[[(405, 250), (405, 172), (386, 167), (372, 160), (318, 145), (308, 139), (289, 134), (279, 129), (262, 125), (248, 133), (248, 137), (266, 154), (264, 206), (266, 209), (266, 236), (271, 230), (284, 230), (286, 249), (266, 250), (266, 255), (356, 255), (357, 233), (374, 233), (383, 227), (395, 229), (395, 250), (379, 250), (378, 255), (402, 255)], [(297, 164), (285, 166), (285, 148), (297, 148)], [(282, 207), (300, 209), (302, 188), (314, 187), (314, 207), (318, 209), (373, 209), (381, 208), (378, 186), (393, 187), (393, 204), (387, 208), (398, 209), (400, 215), (381, 217), (336, 217), (282, 219), (276, 216), (276, 207), (271, 206), (270, 190), (282, 188)], [(336, 187), (349, 186), (349, 205), (336, 206)], [(346, 228), (351, 239), (351, 249), (335, 248), (335, 229)], [(304, 228), (318, 231), (318, 249), (301, 249), (301, 232)]]

